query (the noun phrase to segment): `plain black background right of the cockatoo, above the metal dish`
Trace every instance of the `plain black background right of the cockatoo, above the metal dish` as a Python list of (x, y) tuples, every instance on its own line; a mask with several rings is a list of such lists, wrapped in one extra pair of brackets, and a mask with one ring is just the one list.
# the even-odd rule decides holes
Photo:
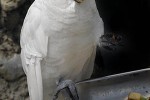
[[(125, 34), (128, 43), (119, 51), (100, 50), (98, 66), (109, 74), (147, 68), (150, 65), (150, 1), (96, 0), (105, 34)], [(119, 47), (118, 47), (119, 48)], [(105, 53), (105, 54), (104, 54)]]

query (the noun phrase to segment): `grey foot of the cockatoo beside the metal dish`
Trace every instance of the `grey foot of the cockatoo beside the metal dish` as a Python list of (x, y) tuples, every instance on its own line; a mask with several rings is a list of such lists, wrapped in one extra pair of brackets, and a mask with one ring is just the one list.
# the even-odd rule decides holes
[(63, 89), (66, 90), (65, 91), (66, 93), (64, 93), (64, 95), (69, 96), (69, 97), (66, 97), (66, 98), (72, 98), (72, 100), (79, 100), (77, 90), (76, 90), (76, 87), (75, 87), (75, 83), (71, 80), (65, 80), (65, 81), (61, 81), (61, 82), (58, 83), (58, 87), (56, 89), (56, 93), (54, 95), (53, 100), (57, 99), (59, 92)]

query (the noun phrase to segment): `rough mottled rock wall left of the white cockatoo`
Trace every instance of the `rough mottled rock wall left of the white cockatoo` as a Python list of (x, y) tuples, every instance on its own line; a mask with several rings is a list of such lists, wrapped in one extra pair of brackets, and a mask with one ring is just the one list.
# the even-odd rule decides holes
[(0, 100), (29, 100), (20, 30), (33, 0), (0, 0)]

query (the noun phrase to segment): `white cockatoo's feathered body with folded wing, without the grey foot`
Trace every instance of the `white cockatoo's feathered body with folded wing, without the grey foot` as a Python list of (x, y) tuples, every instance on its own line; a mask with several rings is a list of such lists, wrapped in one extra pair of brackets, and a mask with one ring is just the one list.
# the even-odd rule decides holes
[(52, 100), (60, 80), (90, 78), (103, 31), (95, 0), (35, 0), (20, 41), (30, 100)]

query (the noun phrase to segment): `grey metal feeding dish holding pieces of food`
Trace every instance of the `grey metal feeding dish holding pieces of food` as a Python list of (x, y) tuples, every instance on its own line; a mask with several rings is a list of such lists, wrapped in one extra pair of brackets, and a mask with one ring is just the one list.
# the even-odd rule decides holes
[(150, 96), (150, 68), (76, 84), (80, 100), (127, 100), (130, 92)]

